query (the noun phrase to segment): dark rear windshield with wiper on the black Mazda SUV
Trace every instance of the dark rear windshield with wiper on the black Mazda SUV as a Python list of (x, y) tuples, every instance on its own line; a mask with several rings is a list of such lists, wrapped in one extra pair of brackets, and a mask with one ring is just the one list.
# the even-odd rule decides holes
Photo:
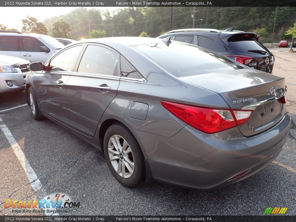
[[(228, 39), (228, 46), (235, 51), (243, 53), (257, 53), (260, 52), (270, 53), (268, 49), (262, 45), (256, 38), (252, 37), (252, 34), (237, 34), (232, 35)], [(258, 51), (259, 50), (259, 51)]]

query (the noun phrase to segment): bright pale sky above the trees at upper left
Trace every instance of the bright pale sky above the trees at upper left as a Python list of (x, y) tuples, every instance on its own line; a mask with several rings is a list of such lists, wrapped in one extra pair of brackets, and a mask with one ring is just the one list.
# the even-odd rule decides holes
[[(8, 28), (22, 30), (22, 20), (26, 15), (37, 18), (40, 22), (53, 16), (67, 14), (78, 7), (2, 7), (0, 14), (0, 24)], [(87, 9), (100, 9), (102, 11), (114, 11), (118, 7), (87, 7)]]

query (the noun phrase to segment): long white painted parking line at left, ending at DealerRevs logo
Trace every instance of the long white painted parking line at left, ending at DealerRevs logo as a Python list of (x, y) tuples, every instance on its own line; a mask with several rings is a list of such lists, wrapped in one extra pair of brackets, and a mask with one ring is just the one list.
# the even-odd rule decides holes
[(28, 162), (27, 158), (25, 157), (25, 154), (23, 153), (21, 147), (16, 142), (14, 137), (12, 136), (10, 130), (7, 128), (7, 126), (4, 124), (0, 117), (0, 129), (4, 133), (5, 137), (7, 138), (8, 142), (10, 143), (10, 146), (12, 147), (12, 150), (14, 151), (14, 154), (19, 159), (19, 162), (21, 163), (24, 171), (27, 174), (27, 177), (30, 181), (31, 187), (34, 191), (38, 191), (42, 185), (40, 183), (40, 180), (38, 179), (37, 175), (35, 174), (33, 168), (31, 167), (30, 163)]

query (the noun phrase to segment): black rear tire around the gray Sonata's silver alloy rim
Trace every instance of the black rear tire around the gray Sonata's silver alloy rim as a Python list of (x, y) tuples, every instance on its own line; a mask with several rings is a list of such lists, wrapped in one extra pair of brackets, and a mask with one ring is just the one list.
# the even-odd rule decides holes
[[(129, 178), (124, 178), (123, 176), (118, 174), (117, 171), (115, 170), (115, 168), (113, 167), (111, 160), (109, 158), (109, 151), (108, 151), (109, 140), (111, 139), (111, 137), (116, 136), (116, 135), (119, 135), (121, 137), (120, 139), (121, 139), (122, 143), (123, 143), (123, 139), (128, 143), (128, 147), (130, 147), (130, 150), (132, 153), (131, 155), (134, 160), (134, 171)], [(111, 147), (112, 147), (112, 144), (113, 143), (110, 140)], [(113, 145), (113, 147), (114, 147), (114, 150), (116, 150), (114, 145)], [(117, 181), (119, 183), (121, 183), (123, 186), (132, 188), (132, 187), (137, 187), (144, 182), (144, 179), (145, 179), (144, 155), (142, 153), (142, 150), (141, 150), (136, 138), (134, 137), (134, 135), (130, 132), (130, 130), (125, 125), (123, 125), (121, 123), (115, 123), (107, 129), (105, 136), (104, 136), (104, 153), (105, 153), (106, 162), (108, 164), (108, 167), (109, 167), (111, 173), (113, 174), (115, 179), (117, 179)], [(116, 154), (111, 154), (111, 155), (116, 156)], [(119, 156), (117, 155), (117, 157), (119, 157)], [(118, 158), (118, 161), (113, 160), (113, 163), (114, 163), (114, 161), (117, 161), (118, 168), (120, 167), (119, 164), (123, 165), (123, 163), (120, 163), (120, 161), (122, 162), (125, 160), (125, 159), (123, 159), (124, 157), (122, 159), (121, 159), (121, 157)], [(126, 161), (124, 164), (126, 166)], [(125, 169), (126, 169), (126, 171), (128, 171), (127, 168), (125, 168)], [(122, 172), (121, 172), (121, 174), (122, 174)]]

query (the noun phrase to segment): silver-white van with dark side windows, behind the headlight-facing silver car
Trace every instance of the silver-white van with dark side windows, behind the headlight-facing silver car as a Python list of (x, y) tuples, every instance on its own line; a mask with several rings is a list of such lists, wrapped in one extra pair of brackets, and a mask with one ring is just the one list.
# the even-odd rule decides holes
[(64, 45), (48, 35), (0, 31), (0, 54), (45, 63)]

